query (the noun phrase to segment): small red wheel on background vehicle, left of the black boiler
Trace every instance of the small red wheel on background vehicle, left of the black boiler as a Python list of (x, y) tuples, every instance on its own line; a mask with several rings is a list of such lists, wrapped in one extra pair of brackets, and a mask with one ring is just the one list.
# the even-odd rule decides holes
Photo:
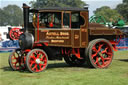
[(18, 40), (21, 34), (20, 28), (12, 28), (9, 32), (9, 36), (12, 40)]

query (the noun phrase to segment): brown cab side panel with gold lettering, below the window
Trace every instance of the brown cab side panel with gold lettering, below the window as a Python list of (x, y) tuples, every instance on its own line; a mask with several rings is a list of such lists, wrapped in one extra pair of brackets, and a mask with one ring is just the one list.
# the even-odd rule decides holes
[(71, 30), (46, 30), (39, 31), (39, 41), (48, 42), (49, 46), (72, 47)]

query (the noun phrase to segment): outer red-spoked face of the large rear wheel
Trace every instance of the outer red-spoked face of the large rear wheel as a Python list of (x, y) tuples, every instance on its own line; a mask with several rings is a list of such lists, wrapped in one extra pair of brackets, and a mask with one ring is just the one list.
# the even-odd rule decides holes
[(92, 46), (90, 54), (92, 63), (98, 68), (107, 67), (111, 63), (113, 57), (111, 46), (104, 41), (95, 43)]

